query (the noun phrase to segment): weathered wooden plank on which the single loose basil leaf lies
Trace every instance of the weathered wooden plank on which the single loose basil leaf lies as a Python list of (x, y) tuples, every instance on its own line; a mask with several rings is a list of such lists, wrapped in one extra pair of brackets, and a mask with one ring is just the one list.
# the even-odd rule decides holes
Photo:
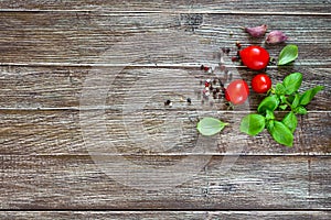
[[(299, 117), (293, 147), (277, 144), (267, 132), (250, 138), (239, 132), (247, 112), (137, 110), (1, 111), (1, 154), (88, 155), (103, 147), (118, 155), (330, 155), (330, 112)], [(201, 147), (197, 118), (214, 116), (229, 125)], [(90, 117), (87, 118), (86, 117)], [(105, 117), (105, 118), (103, 118)], [(105, 130), (106, 129), (106, 130)], [(84, 138), (83, 138), (84, 135)], [(106, 135), (108, 142), (99, 143)], [(96, 141), (94, 141), (96, 140)], [(157, 141), (156, 141), (157, 140)], [(206, 139), (207, 140), (207, 139)], [(205, 140), (205, 141), (206, 141)], [(84, 142), (85, 141), (85, 142)], [(161, 143), (161, 144), (156, 144)], [(107, 143), (107, 144), (106, 144)]]

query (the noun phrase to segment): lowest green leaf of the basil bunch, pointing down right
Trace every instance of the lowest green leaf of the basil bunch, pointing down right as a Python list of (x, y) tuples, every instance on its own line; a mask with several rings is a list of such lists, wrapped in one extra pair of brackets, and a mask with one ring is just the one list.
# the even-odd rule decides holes
[(293, 134), (282, 122), (274, 121), (274, 125), (268, 129), (274, 140), (278, 143), (286, 146), (293, 145)]

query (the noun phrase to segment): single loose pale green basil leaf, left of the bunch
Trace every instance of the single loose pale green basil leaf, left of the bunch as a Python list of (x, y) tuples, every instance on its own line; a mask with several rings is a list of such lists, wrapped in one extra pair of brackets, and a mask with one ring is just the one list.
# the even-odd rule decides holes
[(225, 125), (227, 125), (227, 123), (224, 123), (218, 119), (206, 117), (199, 121), (196, 129), (202, 135), (212, 136), (222, 131)]

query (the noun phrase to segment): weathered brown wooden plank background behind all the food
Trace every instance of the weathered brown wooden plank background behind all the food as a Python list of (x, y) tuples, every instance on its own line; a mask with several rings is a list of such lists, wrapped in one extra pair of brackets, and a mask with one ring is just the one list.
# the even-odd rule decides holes
[[(277, 144), (267, 133), (249, 138), (238, 132), (241, 118), (263, 98), (255, 94), (249, 105), (235, 110), (227, 110), (222, 101), (202, 106), (197, 96), (191, 97), (191, 106), (178, 101), (164, 109), (163, 101), (179, 100), (182, 89), (201, 88), (174, 73), (199, 82), (206, 77), (200, 65), (215, 63), (209, 58), (216, 48), (234, 48), (237, 41), (243, 46), (264, 45), (241, 29), (263, 23), (284, 31), (288, 43), (299, 46), (293, 66), (267, 69), (273, 81), (300, 72), (303, 89), (324, 86), (308, 107), (309, 114), (300, 117), (292, 148)], [(132, 41), (135, 36), (141, 42)], [(196, 40), (185, 42), (191, 57), (173, 48), (185, 37)], [(122, 51), (106, 53), (116, 45), (122, 45)], [(284, 45), (267, 48), (277, 57)], [(135, 64), (126, 63), (128, 57), (136, 57)], [(224, 62), (228, 70), (252, 79), (252, 72), (229, 56)], [(1, 0), (0, 66), (1, 219), (331, 219), (330, 0)], [(117, 74), (119, 68), (124, 69)], [(98, 72), (116, 74), (116, 79), (105, 106), (83, 111), (103, 110), (119, 153), (154, 168), (185, 156), (196, 162), (210, 156), (210, 162), (186, 182), (160, 190), (152, 189), (153, 180), (136, 183), (137, 189), (105, 174), (92, 160), (79, 118), (86, 79)], [(166, 80), (149, 85), (148, 77), (164, 75)], [(132, 92), (135, 85), (142, 92)], [(163, 92), (167, 89), (173, 92)], [(181, 144), (161, 152), (153, 144), (140, 148), (129, 140), (121, 121), (135, 129), (137, 119), (122, 111), (129, 108), (128, 94), (149, 100), (139, 116), (150, 136), (171, 144), (178, 141), (178, 128), (167, 123), (167, 117), (182, 121)], [(188, 118), (196, 112), (231, 123), (218, 136), (217, 148), (191, 152), (197, 138), (196, 117)], [(90, 123), (98, 127), (97, 120)], [(236, 146), (239, 152), (232, 151)], [(103, 146), (96, 142), (92, 147)], [(119, 153), (107, 155), (109, 163), (116, 163)], [(222, 161), (237, 156), (224, 174)], [(119, 166), (113, 172), (130, 179), (126, 170)], [(185, 175), (185, 169), (177, 172)]]

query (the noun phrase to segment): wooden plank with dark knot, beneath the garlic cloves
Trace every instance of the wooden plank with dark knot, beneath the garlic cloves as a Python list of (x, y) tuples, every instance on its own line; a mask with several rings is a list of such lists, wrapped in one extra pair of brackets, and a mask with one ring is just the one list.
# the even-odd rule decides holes
[[(137, 57), (140, 64), (183, 65), (192, 62), (183, 56), (184, 50), (169, 55), (182, 44), (191, 57), (203, 59), (205, 53), (213, 53), (212, 48), (234, 47), (237, 41), (243, 46), (263, 43), (261, 38), (249, 38), (241, 29), (261, 23), (270, 30), (284, 31), (290, 37), (288, 43), (299, 46), (297, 64), (331, 63), (331, 16), (2, 12), (0, 21), (2, 64), (111, 65)], [(121, 51), (110, 53), (116, 45)], [(270, 55), (277, 57), (282, 46), (268, 46)]]

